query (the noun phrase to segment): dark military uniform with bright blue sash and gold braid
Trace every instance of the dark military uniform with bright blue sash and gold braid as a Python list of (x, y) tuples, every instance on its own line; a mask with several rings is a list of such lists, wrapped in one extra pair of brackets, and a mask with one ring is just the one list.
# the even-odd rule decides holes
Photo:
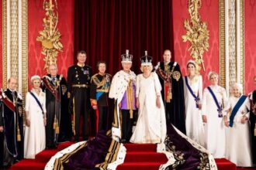
[(97, 73), (91, 80), (91, 104), (97, 106), (96, 111), (99, 112), (98, 131), (107, 130), (110, 80), (111, 75), (108, 73), (105, 75)]

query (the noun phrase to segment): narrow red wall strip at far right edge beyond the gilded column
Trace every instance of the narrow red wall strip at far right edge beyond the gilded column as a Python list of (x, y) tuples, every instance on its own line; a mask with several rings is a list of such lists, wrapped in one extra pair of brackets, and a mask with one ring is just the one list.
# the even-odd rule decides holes
[(256, 75), (256, 1), (244, 1), (245, 92), (255, 89)]

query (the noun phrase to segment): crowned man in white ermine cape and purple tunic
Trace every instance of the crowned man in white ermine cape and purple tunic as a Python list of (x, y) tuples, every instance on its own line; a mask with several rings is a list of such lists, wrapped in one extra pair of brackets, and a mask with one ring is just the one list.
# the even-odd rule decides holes
[(130, 70), (133, 56), (126, 53), (121, 56), (123, 70), (117, 72), (109, 90), (109, 98), (115, 100), (114, 121), (112, 123), (112, 137), (116, 141), (130, 141), (133, 128), (133, 117), (136, 107), (136, 74)]

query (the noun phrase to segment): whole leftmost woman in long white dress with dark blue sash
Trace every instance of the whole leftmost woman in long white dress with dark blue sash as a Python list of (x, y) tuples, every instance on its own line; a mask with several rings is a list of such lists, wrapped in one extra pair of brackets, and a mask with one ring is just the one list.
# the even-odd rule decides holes
[(35, 158), (45, 148), (45, 93), (40, 88), (40, 76), (31, 77), (32, 90), (26, 93), (26, 128), (24, 158)]

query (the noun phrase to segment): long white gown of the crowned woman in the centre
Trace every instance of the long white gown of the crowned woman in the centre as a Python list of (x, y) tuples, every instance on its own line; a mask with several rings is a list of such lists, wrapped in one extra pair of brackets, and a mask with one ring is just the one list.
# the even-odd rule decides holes
[(136, 96), (140, 107), (136, 128), (130, 142), (132, 143), (161, 143), (166, 136), (166, 121), (164, 104), (156, 105), (157, 96), (161, 97), (161, 84), (156, 73), (144, 78), (143, 74), (137, 76)]

